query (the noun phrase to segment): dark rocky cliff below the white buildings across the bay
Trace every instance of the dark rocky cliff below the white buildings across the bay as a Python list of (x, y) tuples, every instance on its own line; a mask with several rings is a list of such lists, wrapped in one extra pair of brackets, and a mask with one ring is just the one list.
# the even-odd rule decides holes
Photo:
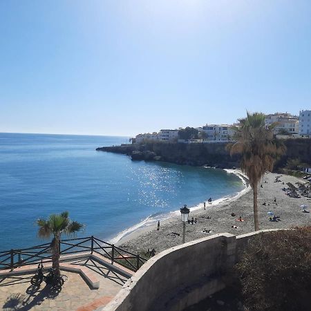
[[(287, 151), (276, 162), (274, 168), (283, 167), (288, 159), (299, 159), (311, 166), (311, 139), (283, 140)], [(176, 164), (209, 165), (211, 167), (230, 168), (238, 166), (238, 156), (231, 157), (227, 143), (183, 144), (178, 142), (148, 142), (146, 144), (124, 144), (121, 146), (101, 147), (97, 151), (123, 153), (133, 160), (158, 160)]]

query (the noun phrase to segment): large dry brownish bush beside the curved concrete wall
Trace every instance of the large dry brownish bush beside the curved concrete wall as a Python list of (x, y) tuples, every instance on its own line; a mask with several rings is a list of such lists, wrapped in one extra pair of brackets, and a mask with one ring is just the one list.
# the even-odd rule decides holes
[(249, 310), (310, 310), (311, 227), (258, 234), (236, 269)]

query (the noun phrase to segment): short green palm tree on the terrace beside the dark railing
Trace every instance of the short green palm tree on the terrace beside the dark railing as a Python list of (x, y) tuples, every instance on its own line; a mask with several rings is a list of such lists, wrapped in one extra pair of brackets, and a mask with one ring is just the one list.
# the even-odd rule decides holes
[(75, 234), (82, 230), (84, 225), (72, 221), (68, 218), (68, 211), (64, 211), (61, 214), (52, 214), (48, 219), (40, 218), (37, 220), (39, 226), (38, 236), (39, 238), (50, 238), (53, 236), (53, 240), (50, 243), (50, 249), (52, 250), (52, 267), (55, 269), (55, 275), (59, 276), (59, 245), (62, 233), (67, 235)]

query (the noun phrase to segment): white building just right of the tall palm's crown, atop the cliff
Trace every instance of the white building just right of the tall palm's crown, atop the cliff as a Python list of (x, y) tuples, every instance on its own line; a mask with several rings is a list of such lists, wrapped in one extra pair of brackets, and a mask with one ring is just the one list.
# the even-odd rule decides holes
[(265, 116), (265, 124), (271, 125), (275, 123), (273, 129), (274, 134), (289, 133), (298, 134), (299, 132), (299, 117), (291, 115), (290, 113), (274, 113)]

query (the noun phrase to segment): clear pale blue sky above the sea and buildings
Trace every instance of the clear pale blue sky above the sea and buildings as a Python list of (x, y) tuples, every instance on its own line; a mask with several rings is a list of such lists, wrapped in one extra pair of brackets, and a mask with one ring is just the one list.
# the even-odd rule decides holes
[(1, 0), (0, 132), (133, 135), (311, 109), (310, 0)]

